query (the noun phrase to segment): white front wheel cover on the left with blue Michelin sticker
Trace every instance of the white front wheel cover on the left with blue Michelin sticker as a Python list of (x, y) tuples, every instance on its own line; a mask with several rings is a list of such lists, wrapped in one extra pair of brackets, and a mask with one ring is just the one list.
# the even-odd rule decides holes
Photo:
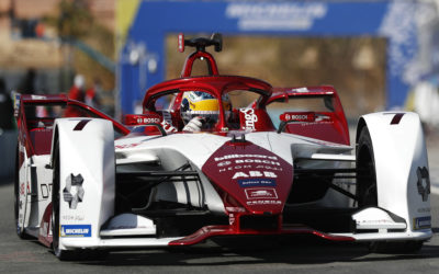
[[(113, 127), (109, 121), (88, 119), (81, 130), (75, 128), (85, 119), (63, 118), (55, 123), (59, 141), (60, 249), (77, 240), (83, 247), (95, 247), (100, 227), (114, 214)], [(80, 175), (82, 183), (68, 185), (71, 175)], [(70, 202), (67, 192), (72, 196)]]

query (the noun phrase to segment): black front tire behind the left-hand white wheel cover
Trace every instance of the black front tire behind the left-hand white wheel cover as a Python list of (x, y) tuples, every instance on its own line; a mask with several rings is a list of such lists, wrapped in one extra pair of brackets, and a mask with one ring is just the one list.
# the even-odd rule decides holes
[(52, 249), (54, 254), (60, 261), (74, 261), (78, 258), (78, 252), (76, 250), (61, 250), (59, 248), (59, 201), (60, 201), (60, 192), (59, 192), (59, 144), (57, 142), (54, 151), (54, 175), (53, 175), (53, 189), (52, 189)]

